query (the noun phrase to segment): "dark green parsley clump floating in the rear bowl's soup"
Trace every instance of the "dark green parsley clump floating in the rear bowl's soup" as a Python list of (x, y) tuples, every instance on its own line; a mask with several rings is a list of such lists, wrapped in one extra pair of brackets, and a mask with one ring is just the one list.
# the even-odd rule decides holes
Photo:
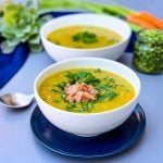
[(73, 36), (76, 42), (95, 43), (98, 41), (97, 35), (90, 32), (82, 32)]

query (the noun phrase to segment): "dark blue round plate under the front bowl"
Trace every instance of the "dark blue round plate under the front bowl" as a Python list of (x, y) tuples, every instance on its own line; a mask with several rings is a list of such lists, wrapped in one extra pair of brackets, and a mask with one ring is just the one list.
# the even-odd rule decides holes
[(121, 153), (137, 142), (145, 130), (146, 116), (139, 104), (120, 127), (96, 137), (79, 137), (52, 125), (37, 106), (30, 118), (36, 138), (45, 147), (70, 156), (101, 158)]

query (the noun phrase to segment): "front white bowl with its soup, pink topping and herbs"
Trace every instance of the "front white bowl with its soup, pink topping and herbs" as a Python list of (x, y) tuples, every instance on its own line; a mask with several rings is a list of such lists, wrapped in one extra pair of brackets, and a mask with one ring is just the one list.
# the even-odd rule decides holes
[(36, 101), (59, 128), (95, 136), (121, 125), (134, 111), (140, 91), (137, 75), (104, 59), (72, 59), (53, 64), (35, 80)]

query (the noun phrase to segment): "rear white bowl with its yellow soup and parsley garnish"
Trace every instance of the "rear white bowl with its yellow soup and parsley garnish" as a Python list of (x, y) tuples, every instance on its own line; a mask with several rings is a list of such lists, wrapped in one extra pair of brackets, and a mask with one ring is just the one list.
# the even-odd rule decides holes
[(103, 14), (71, 14), (46, 23), (40, 30), (48, 54), (57, 61), (72, 58), (116, 60), (131, 30), (124, 21)]

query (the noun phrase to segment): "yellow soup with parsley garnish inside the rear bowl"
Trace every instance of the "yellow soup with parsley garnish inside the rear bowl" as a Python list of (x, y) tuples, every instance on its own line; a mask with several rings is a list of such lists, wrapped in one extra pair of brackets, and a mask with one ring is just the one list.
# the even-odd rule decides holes
[(68, 48), (91, 49), (115, 45), (122, 37), (113, 30), (97, 26), (68, 26), (53, 30), (48, 40)]

